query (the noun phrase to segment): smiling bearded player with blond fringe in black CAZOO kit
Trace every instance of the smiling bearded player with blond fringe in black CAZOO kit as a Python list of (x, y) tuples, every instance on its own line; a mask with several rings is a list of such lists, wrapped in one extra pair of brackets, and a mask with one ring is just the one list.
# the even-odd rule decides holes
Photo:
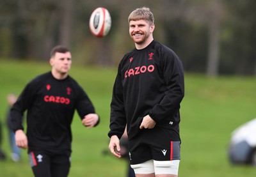
[(113, 86), (109, 150), (120, 158), (127, 125), (129, 160), (136, 176), (178, 176), (182, 62), (153, 38), (154, 15), (138, 8), (128, 17), (135, 49), (125, 54)]

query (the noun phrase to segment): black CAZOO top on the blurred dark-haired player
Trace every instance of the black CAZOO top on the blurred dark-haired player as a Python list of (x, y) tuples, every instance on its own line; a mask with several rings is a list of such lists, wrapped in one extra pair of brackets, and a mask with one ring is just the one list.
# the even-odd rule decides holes
[(28, 110), (29, 151), (71, 151), (70, 125), (75, 109), (81, 119), (95, 113), (92, 102), (72, 77), (58, 80), (51, 72), (44, 73), (27, 84), (13, 105), (12, 128), (24, 129), (22, 115)]

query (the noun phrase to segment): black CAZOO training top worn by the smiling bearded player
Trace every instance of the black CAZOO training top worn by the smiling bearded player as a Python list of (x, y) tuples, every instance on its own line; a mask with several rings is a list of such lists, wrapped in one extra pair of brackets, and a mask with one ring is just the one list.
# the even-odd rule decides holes
[(125, 54), (118, 66), (111, 101), (108, 136), (122, 136), (127, 123), (129, 139), (140, 132), (144, 116), (156, 126), (173, 130), (180, 141), (180, 102), (184, 97), (184, 72), (173, 50), (153, 40), (145, 49)]

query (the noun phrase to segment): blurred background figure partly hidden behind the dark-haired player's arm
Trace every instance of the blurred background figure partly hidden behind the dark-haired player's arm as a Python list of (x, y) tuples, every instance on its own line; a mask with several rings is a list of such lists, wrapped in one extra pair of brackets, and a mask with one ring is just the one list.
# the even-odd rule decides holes
[(19, 162), (20, 160), (20, 148), (16, 146), (15, 143), (15, 133), (12, 131), (12, 125), (11, 125), (11, 116), (10, 116), (10, 109), (12, 105), (16, 102), (17, 97), (13, 93), (9, 93), (7, 95), (7, 102), (9, 104), (7, 116), (6, 116), (6, 123), (8, 127), (8, 135), (9, 135), (9, 141), (10, 141), (10, 147), (11, 147), (11, 157), (14, 162)]

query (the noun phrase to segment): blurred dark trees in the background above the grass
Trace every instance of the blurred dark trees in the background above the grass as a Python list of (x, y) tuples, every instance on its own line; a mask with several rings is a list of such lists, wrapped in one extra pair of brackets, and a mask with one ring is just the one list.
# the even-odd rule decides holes
[[(186, 72), (256, 75), (254, 0), (2, 0), (0, 57), (49, 59), (58, 44), (72, 50), (75, 63), (111, 66), (134, 44), (127, 17), (148, 6), (155, 15), (154, 38), (177, 52)], [(105, 38), (90, 34), (90, 14), (108, 8), (112, 27)]]

